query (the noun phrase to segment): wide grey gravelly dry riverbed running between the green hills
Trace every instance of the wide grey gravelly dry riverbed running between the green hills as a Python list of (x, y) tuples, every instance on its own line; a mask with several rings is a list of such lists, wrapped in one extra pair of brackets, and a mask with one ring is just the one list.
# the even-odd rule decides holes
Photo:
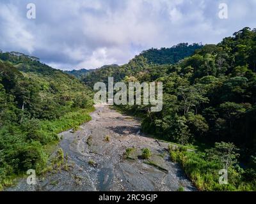
[[(195, 191), (179, 164), (172, 163), (168, 143), (140, 133), (140, 121), (108, 106), (96, 106), (92, 120), (76, 133), (61, 133), (65, 161), (29, 186), (21, 179), (7, 191)], [(125, 150), (131, 148), (129, 158)], [(141, 149), (152, 157), (141, 159)], [(53, 156), (52, 156), (53, 157)]]

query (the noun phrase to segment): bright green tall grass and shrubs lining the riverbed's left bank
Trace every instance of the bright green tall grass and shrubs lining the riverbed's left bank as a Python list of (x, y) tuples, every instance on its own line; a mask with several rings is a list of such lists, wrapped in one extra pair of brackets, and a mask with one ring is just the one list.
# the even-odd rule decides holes
[(36, 173), (44, 170), (50, 156), (49, 146), (58, 143), (58, 133), (88, 122), (94, 108), (76, 109), (59, 119), (29, 120), (35, 125), (20, 128), (10, 124), (0, 130), (0, 191), (12, 185), (13, 179), (24, 175), (27, 170)]

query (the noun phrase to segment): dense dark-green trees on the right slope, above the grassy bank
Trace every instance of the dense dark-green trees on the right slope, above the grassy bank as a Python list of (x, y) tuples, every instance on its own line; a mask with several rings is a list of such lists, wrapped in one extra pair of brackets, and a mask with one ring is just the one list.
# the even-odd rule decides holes
[[(256, 150), (256, 68), (251, 54), (255, 45), (256, 33), (246, 27), (173, 65), (150, 64), (147, 54), (140, 55), (121, 69), (125, 75), (121, 79), (163, 82), (163, 110), (150, 112), (150, 106), (143, 105), (126, 105), (122, 110), (140, 115), (143, 131), (164, 140), (182, 145), (234, 143), (247, 149), (241, 157), (247, 163), (246, 157)], [(149, 52), (152, 59), (155, 52)]]

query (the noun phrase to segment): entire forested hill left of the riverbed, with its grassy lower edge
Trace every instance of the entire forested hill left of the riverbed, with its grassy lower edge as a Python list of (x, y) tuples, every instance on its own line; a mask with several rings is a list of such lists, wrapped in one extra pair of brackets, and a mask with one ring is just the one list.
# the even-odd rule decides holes
[(92, 92), (75, 77), (17, 52), (0, 53), (0, 190), (42, 171), (57, 134), (90, 119)]

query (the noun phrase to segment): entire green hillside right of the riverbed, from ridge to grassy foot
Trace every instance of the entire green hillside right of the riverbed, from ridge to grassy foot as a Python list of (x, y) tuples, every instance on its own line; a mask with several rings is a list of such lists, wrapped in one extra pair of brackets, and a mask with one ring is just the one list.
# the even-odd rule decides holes
[[(188, 49), (188, 54), (193, 48), (194, 54), (182, 60), (170, 57), (173, 49)], [(145, 133), (196, 145), (197, 153), (170, 149), (170, 154), (198, 189), (243, 191), (256, 189), (255, 71), (256, 30), (245, 27), (218, 45), (148, 50), (124, 66), (97, 69), (84, 82), (92, 86), (107, 82), (107, 77), (127, 83), (163, 82), (161, 112), (150, 112), (144, 105), (122, 105), (120, 110), (140, 115)], [(221, 168), (229, 173), (228, 185), (218, 184)]]

